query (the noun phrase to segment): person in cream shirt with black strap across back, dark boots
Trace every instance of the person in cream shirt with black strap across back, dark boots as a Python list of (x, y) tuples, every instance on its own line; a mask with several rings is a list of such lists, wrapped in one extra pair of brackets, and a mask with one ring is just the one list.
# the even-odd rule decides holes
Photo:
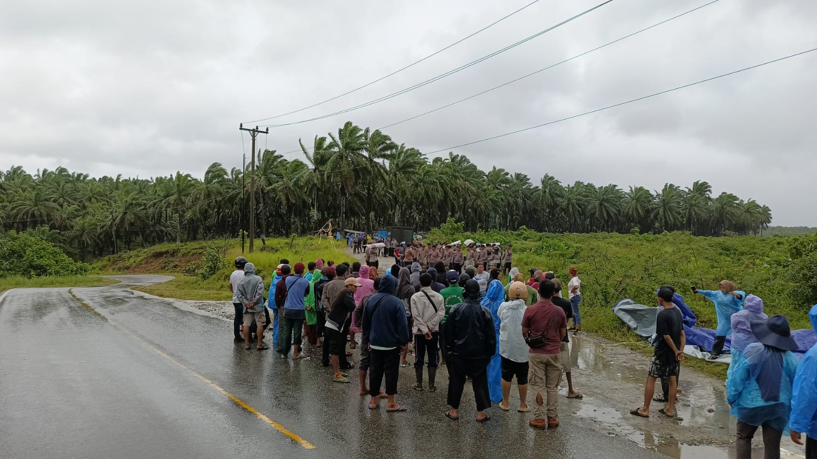
[(431, 290), (431, 274), (420, 276), (420, 291), (411, 297), (411, 315), (413, 318), (414, 374), (417, 385), (414, 390), (422, 390), (422, 364), (428, 355), (428, 391), (437, 390), (435, 385), (437, 358), (440, 352), (440, 321), (445, 316), (445, 301), (440, 293)]

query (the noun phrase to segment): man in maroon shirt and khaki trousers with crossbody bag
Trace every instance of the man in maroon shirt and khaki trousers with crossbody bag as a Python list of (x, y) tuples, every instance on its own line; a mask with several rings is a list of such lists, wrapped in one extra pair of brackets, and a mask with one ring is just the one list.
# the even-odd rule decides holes
[[(522, 316), (522, 334), (531, 346), (529, 390), (536, 402), (534, 419), (529, 424), (537, 429), (552, 429), (559, 426), (560, 354), (561, 341), (567, 335), (567, 317), (565, 311), (551, 301), (556, 290), (551, 281), (542, 280), (538, 290), (539, 302), (529, 306)], [(546, 396), (547, 418), (543, 406)]]

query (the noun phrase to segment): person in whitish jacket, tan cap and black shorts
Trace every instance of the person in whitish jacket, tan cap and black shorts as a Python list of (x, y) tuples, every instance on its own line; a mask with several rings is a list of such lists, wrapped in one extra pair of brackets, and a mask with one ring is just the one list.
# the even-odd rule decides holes
[(525, 315), (525, 299), (528, 297), (528, 286), (514, 282), (508, 288), (509, 301), (499, 305), (499, 358), (502, 369), (502, 402), (499, 408), (510, 411), (508, 399), (511, 396), (511, 381), (516, 376), (519, 389), (518, 412), (529, 412), (528, 408), (528, 345), (522, 336), (522, 317)]

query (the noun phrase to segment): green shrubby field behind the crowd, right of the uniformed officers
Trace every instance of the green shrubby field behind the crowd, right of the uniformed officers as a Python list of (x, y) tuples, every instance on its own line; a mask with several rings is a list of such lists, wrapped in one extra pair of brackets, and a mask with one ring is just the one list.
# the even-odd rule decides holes
[[(464, 234), (433, 230), (426, 240), (472, 238), (483, 243), (512, 243), (514, 265), (528, 275), (531, 267), (551, 270), (567, 283), (568, 268), (577, 265), (583, 280), (581, 306), (583, 329), (645, 354), (645, 341), (631, 332), (612, 307), (632, 298), (643, 305), (657, 305), (656, 289), (676, 287), (698, 316), (699, 326), (715, 328), (712, 303), (693, 295), (691, 286), (717, 290), (721, 279), (760, 296), (766, 313), (785, 314), (792, 329), (810, 328), (811, 305), (795, 304), (792, 283), (784, 273), (787, 238), (703, 238), (689, 234), (540, 234), (530, 230)], [(686, 366), (725, 378), (726, 366), (688, 358)]]

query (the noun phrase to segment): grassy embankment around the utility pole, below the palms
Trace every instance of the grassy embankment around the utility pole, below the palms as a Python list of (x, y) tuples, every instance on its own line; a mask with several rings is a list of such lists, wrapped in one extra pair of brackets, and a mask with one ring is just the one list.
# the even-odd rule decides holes
[[(210, 247), (217, 247), (225, 253), (225, 265), (209, 279), (201, 279), (196, 273), (203, 265), (203, 253)], [(269, 286), (275, 267), (282, 258), (294, 265), (298, 261), (304, 265), (321, 257), (324, 262), (333, 260), (352, 262), (342, 243), (328, 238), (268, 238), (266, 245), (256, 241), (256, 252), (245, 250), (243, 256), (256, 265), (256, 270)], [(134, 290), (151, 295), (181, 300), (230, 301), (230, 273), (232, 261), (241, 256), (241, 240), (199, 241), (194, 243), (165, 243), (154, 247), (108, 256), (95, 266), (105, 274), (170, 274), (176, 279), (166, 283)]]

